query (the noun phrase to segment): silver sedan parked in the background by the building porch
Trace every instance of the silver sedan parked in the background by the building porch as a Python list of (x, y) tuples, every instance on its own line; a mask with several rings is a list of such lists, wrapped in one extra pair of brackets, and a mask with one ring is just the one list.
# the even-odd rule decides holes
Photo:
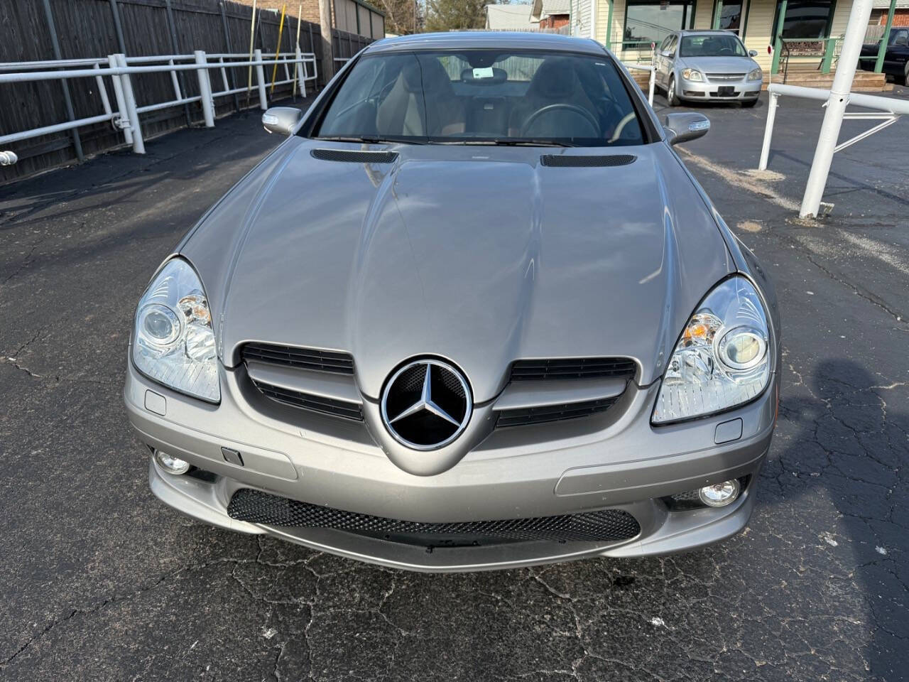
[(737, 35), (728, 31), (677, 31), (667, 35), (654, 56), (656, 85), (670, 106), (687, 101), (722, 100), (754, 106), (764, 74)]

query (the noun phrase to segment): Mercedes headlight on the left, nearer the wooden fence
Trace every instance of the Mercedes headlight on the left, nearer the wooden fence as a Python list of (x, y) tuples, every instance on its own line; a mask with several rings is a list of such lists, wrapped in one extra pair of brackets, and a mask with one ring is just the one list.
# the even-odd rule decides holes
[(199, 276), (182, 258), (168, 261), (139, 301), (133, 362), (175, 391), (221, 400), (212, 315)]

